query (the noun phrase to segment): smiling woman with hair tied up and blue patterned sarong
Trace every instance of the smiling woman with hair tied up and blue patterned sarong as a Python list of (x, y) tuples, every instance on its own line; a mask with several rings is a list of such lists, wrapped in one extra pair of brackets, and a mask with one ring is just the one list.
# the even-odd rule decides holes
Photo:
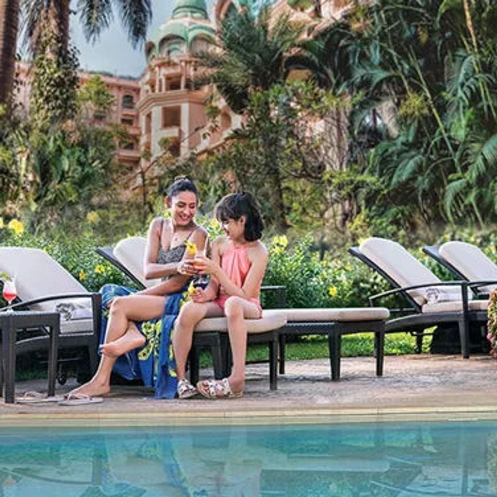
[[(102, 289), (102, 305), (110, 304), (110, 309), (108, 316), (104, 313), (100, 364), (93, 378), (70, 392), (69, 398), (108, 394), (113, 368), (127, 379), (141, 378), (146, 386), (154, 386), (158, 398), (174, 396), (176, 379), (174, 373), (170, 374), (174, 365), (169, 359), (169, 334), (185, 286), (195, 273), (186, 241), (204, 250), (207, 232), (194, 221), (198, 193), (190, 179), (174, 181), (167, 192), (166, 206), (170, 218), (152, 221), (144, 261), (146, 278), (162, 277), (163, 281), (136, 293), (115, 285)], [(130, 351), (133, 353), (128, 354)]]

